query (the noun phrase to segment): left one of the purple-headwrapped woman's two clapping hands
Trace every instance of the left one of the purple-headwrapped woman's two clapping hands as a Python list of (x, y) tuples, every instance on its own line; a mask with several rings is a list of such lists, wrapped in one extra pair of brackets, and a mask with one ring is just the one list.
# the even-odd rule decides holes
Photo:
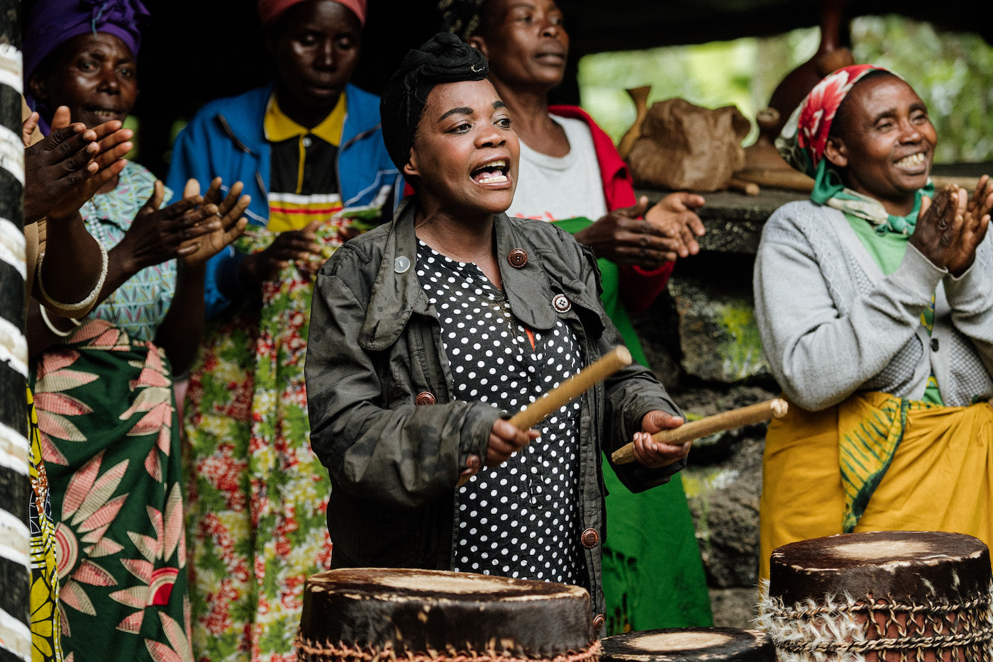
[(114, 248), (122, 251), (128, 271), (137, 273), (145, 267), (193, 254), (198, 246), (188, 243), (190, 239), (221, 227), (217, 205), (204, 203), (201, 196), (184, 198), (160, 209), (164, 197), (165, 187), (156, 180), (152, 197)]

